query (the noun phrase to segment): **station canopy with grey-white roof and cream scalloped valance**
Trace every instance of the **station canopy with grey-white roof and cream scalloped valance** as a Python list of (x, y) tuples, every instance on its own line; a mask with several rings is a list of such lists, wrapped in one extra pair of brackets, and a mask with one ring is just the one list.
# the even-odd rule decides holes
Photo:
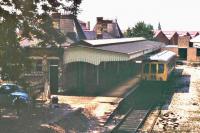
[(164, 46), (164, 43), (149, 41), (142, 37), (82, 40), (65, 49), (64, 64), (87, 62), (99, 65), (101, 62), (128, 61)]

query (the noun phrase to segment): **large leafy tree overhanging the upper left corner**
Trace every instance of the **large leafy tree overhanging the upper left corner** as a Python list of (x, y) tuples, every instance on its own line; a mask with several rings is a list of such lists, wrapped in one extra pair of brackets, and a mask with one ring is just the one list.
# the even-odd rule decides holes
[[(0, 1), (0, 68), (2, 78), (19, 80), (30, 61), (20, 41), (37, 38), (38, 46), (57, 47), (65, 36), (53, 28), (52, 12), (77, 15), (82, 0), (1, 0)], [(71, 3), (71, 5), (66, 4)]]

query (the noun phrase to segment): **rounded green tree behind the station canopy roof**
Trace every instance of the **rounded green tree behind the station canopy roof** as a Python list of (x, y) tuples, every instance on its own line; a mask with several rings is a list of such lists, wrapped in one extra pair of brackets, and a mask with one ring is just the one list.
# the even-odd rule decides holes
[(144, 22), (138, 22), (135, 27), (128, 28), (125, 32), (126, 37), (144, 37), (149, 40), (153, 39), (153, 35), (153, 26)]

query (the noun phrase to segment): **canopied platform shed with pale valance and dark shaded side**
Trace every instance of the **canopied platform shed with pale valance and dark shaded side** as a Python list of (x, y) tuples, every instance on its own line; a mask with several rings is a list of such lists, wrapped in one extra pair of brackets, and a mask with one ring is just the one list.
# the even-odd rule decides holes
[(141, 61), (164, 47), (144, 38), (82, 40), (65, 48), (64, 92), (98, 94), (134, 76), (140, 76)]

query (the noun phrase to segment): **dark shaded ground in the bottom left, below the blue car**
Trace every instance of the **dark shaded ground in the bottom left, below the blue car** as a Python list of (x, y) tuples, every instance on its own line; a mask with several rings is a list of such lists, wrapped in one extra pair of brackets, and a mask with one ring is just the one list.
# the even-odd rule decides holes
[[(13, 108), (1, 109), (0, 133), (75, 133), (87, 132), (92, 120), (69, 105), (37, 103), (19, 115)], [(95, 124), (95, 122), (93, 122)], [(94, 126), (94, 125), (93, 125)]]

